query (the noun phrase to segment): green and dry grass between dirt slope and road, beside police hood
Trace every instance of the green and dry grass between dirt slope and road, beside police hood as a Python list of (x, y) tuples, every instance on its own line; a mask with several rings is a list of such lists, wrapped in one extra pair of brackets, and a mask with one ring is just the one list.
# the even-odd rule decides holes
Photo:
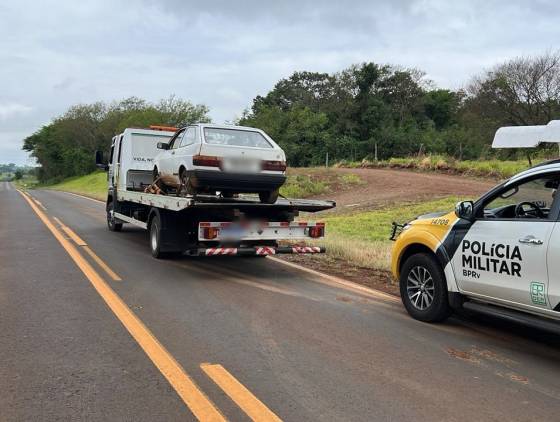
[(437, 211), (451, 211), (462, 198), (447, 197), (421, 203), (401, 203), (379, 210), (321, 216), (326, 223), (325, 239), (316, 242), (325, 246), (335, 259), (376, 270), (390, 269), (389, 240), (391, 223), (405, 223), (418, 215)]

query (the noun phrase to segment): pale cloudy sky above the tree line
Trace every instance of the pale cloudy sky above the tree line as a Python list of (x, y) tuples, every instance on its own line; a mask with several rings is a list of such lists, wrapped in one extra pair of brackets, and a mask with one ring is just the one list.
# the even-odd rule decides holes
[[(373, 61), (440, 88), (560, 44), (560, 2), (2, 0), (0, 163), (68, 107), (175, 94), (232, 121), (294, 71)], [(108, 140), (109, 141), (109, 140)]]

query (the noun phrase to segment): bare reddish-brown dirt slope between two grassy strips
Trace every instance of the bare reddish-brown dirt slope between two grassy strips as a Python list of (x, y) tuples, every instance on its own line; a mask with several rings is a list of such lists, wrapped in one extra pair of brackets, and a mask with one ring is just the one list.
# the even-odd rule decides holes
[(435, 173), (385, 169), (332, 169), (358, 175), (365, 183), (344, 191), (333, 190), (319, 196), (337, 203), (335, 212), (375, 209), (398, 202), (436, 199), (458, 195), (478, 198), (496, 181), (468, 179)]

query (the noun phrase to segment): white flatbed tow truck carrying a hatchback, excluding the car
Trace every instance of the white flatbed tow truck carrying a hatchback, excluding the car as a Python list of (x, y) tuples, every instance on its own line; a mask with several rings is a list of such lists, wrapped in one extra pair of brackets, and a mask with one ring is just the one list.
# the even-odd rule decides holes
[(127, 128), (113, 137), (108, 163), (101, 152), (96, 153), (97, 166), (108, 171), (106, 209), (111, 231), (120, 231), (125, 223), (148, 230), (155, 258), (325, 252), (302, 244), (323, 237), (325, 224), (295, 218), (300, 212), (333, 208), (334, 201), (281, 198), (265, 204), (251, 196), (148, 193), (157, 143), (173, 134), (174, 129), (167, 127)]

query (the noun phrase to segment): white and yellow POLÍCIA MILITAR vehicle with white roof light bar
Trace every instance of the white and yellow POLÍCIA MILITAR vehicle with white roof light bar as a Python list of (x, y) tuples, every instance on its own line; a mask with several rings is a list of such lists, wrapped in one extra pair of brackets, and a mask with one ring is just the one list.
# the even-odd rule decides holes
[[(560, 121), (506, 127), (497, 148), (560, 142)], [(465, 308), (558, 332), (560, 159), (499, 184), (454, 212), (393, 223), (392, 272), (402, 302), (421, 321)]]

